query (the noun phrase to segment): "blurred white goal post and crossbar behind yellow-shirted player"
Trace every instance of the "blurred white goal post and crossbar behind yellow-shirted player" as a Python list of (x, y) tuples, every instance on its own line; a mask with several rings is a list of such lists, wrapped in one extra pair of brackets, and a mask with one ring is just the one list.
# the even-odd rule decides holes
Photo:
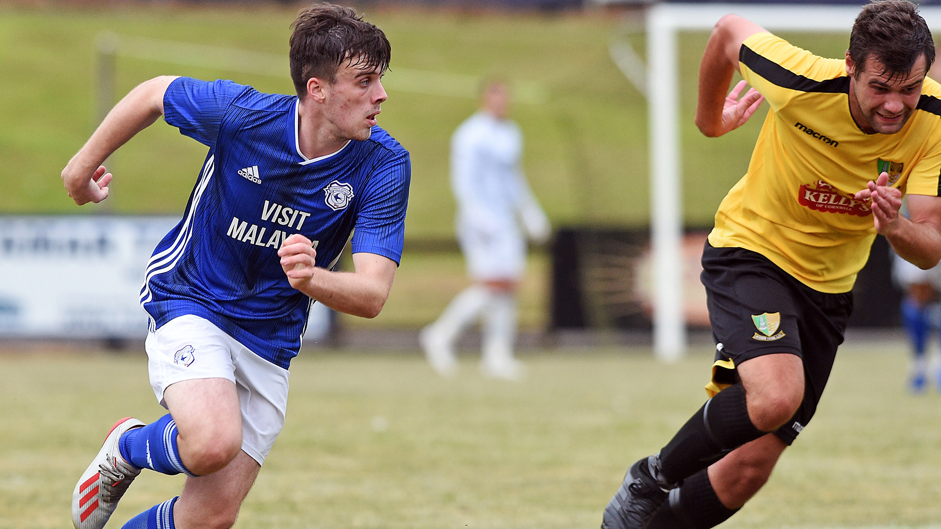
[[(656, 4), (646, 13), (647, 116), (650, 142), (650, 244), (653, 254), (654, 353), (677, 361), (686, 352), (683, 320), (682, 207), (679, 164), (677, 34), (710, 30), (735, 13), (769, 31), (847, 31), (860, 6), (795, 4)], [(941, 8), (919, 8), (941, 27)]]

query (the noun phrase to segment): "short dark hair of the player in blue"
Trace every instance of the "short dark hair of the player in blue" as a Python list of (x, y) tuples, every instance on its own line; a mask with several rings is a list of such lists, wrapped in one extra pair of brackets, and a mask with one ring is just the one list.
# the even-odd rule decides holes
[(291, 27), (291, 80), (301, 98), (311, 77), (336, 81), (343, 61), (362, 70), (389, 68), (391, 46), (386, 34), (363, 21), (354, 8), (314, 4), (301, 9)]

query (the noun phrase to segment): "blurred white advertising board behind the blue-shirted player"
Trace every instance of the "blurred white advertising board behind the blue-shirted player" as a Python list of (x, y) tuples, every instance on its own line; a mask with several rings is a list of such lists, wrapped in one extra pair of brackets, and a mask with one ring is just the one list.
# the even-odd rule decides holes
[[(175, 216), (0, 216), (0, 337), (142, 340), (137, 299)], [(329, 328), (315, 304), (306, 339)]]

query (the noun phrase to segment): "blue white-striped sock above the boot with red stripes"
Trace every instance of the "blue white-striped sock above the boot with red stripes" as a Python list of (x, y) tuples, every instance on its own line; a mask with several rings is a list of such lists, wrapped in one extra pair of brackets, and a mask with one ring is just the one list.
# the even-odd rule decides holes
[(167, 413), (150, 425), (125, 432), (118, 442), (120, 457), (138, 469), (151, 469), (169, 475), (194, 475), (183, 466), (176, 438), (176, 423)]

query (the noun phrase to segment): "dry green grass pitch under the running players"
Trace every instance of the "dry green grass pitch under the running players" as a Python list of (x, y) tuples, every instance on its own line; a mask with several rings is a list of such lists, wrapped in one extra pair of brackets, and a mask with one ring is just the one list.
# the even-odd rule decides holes
[[(595, 528), (627, 466), (656, 451), (705, 398), (710, 355), (676, 365), (648, 351), (524, 355), (519, 384), (454, 381), (418, 355), (305, 352), (287, 425), (241, 528)], [(941, 518), (941, 397), (903, 389), (905, 351), (841, 351), (814, 421), (729, 528), (923, 527)], [(72, 487), (107, 428), (151, 421), (142, 354), (0, 356), (0, 528), (70, 526)], [(146, 472), (120, 527), (177, 493)]]

